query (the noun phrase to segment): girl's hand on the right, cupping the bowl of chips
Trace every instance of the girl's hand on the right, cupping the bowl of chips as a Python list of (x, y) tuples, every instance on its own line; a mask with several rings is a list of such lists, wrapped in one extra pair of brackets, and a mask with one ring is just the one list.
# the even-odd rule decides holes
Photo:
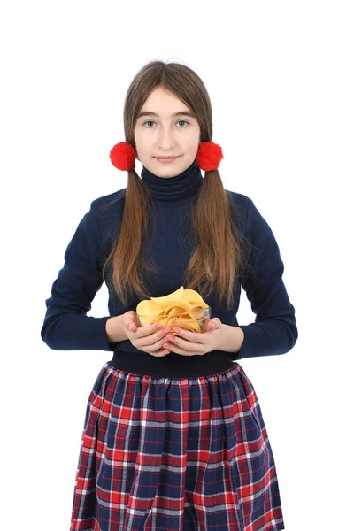
[(213, 317), (205, 327), (205, 332), (189, 332), (183, 328), (173, 328), (175, 335), (166, 335), (163, 347), (170, 349), (182, 356), (203, 356), (207, 352), (217, 350), (221, 335), (223, 334), (223, 324), (219, 317)]

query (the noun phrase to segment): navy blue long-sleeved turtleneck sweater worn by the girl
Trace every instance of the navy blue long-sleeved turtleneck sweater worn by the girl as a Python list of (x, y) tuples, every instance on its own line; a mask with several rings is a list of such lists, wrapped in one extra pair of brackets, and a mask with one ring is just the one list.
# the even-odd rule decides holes
[[(203, 182), (196, 161), (180, 175), (163, 178), (142, 168), (142, 181), (150, 189), (151, 207), (158, 222), (158, 230), (143, 245), (142, 253), (152, 258), (158, 273), (143, 277), (152, 296), (165, 296), (182, 285), (183, 270), (187, 266), (192, 242), (189, 234), (188, 212), (196, 192)], [(211, 296), (205, 302), (212, 308), (212, 317), (222, 323), (241, 327), (244, 332), (242, 348), (237, 353), (215, 350), (204, 356), (185, 357), (171, 352), (162, 358), (137, 350), (130, 340), (109, 343), (105, 323), (112, 316), (128, 310), (136, 311), (139, 300), (124, 306), (112, 289), (112, 277), (102, 278), (102, 267), (115, 241), (122, 219), (127, 189), (95, 199), (65, 250), (65, 263), (53, 282), (51, 296), (45, 301), (47, 311), (42, 325), (42, 340), (53, 350), (107, 350), (114, 352), (113, 366), (136, 372), (143, 367), (157, 375), (198, 375), (216, 372), (231, 366), (241, 358), (270, 356), (288, 352), (296, 343), (297, 327), (294, 306), (282, 281), (284, 270), (278, 244), (266, 220), (248, 196), (228, 191), (235, 202), (237, 227), (252, 244), (250, 260), (256, 277), (248, 277), (242, 288), (255, 313), (254, 323), (239, 325), (237, 311), (241, 287), (235, 284), (235, 304), (232, 310), (219, 306)], [(105, 281), (109, 291), (109, 315), (91, 317), (87, 312), (98, 289)], [(236, 285), (239, 287), (236, 288)], [(186, 287), (185, 287), (186, 288)], [(148, 359), (150, 358), (150, 359)], [(119, 366), (119, 359), (125, 360)], [(208, 366), (208, 359), (213, 359)], [(217, 361), (215, 361), (217, 360)], [(219, 361), (218, 361), (219, 360)], [(222, 361), (221, 361), (222, 360)], [(145, 363), (146, 365), (143, 365)], [(227, 365), (225, 365), (227, 364)], [(204, 368), (204, 370), (202, 369)]]

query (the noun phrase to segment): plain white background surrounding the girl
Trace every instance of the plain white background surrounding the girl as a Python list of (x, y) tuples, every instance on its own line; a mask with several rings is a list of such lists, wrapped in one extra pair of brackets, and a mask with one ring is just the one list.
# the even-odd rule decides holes
[[(86, 404), (112, 356), (50, 350), (40, 336), (44, 301), (91, 201), (127, 186), (109, 151), (125, 140), (127, 87), (154, 59), (189, 65), (202, 78), (224, 186), (252, 198), (281, 249), (296, 346), (240, 364), (273, 447), (286, 530), (351, 528), (350, 7), (339, 0), (2, 7), (2, 528), (69, 528)], [(107, 301), (104, 285), (89, 314), (107, 315)], [(238, 320), (254, 321), (244, 292)]]

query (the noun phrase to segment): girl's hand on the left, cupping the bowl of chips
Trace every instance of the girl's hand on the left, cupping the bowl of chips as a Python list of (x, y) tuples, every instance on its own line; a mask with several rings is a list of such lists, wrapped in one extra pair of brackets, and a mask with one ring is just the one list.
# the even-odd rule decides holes
[(162, 357), (170, 353), (170, 350), (163, 348), (165, 335), (171, 331), (170, 327), (164, 328), (163, 325), (157, 323), (149, 327), (138, 327), (137, 322), (138, 320), (134, 310), (123, 313), (121, 319), (122, 327), (127, 338), (137, 349), (157, 357)]

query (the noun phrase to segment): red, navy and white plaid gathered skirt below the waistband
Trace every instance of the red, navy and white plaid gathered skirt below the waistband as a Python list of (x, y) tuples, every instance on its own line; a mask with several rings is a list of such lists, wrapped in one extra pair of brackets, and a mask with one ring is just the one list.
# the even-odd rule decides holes
[(105, 363), (89, 395), (70, 529), (285, 529), (273, 452), (242, 366), (162, 378)]

